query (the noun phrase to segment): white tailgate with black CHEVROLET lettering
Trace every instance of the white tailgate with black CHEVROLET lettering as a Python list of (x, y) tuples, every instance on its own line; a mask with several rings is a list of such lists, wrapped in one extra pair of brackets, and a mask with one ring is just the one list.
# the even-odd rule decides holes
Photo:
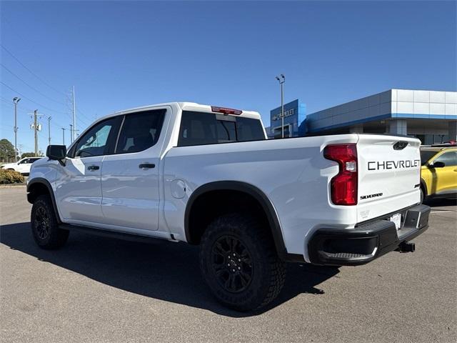
[(420, 141), (403, 136), (364, 135), (357, 142), (358, 222), (420, 201)]

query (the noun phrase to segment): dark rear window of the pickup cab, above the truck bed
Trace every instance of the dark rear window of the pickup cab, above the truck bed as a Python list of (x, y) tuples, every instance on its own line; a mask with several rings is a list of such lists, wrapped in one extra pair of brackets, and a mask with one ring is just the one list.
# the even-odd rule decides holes
[(178, 146), (265, 139), (261, 121), (196, 111), (183, 111)]

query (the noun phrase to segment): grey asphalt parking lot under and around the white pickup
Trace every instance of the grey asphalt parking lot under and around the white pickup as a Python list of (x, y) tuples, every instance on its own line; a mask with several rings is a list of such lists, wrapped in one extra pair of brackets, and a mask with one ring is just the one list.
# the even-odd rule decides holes
[(1, 342), (456, 342), (457, 213), (433, 202), (416, 252), (361, 267), (290, 264), (260, 313), (221, 307), (198, 249), (71, 234), (36, 247), (25, 187), (0, 189)]

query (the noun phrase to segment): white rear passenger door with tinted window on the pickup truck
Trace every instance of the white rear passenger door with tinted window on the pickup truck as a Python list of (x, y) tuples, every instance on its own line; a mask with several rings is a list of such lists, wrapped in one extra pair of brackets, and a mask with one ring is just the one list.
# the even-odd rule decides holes
[[(124, 116), (114, 154), (101, 170), (103, 223), (116, 227), (159, 228), (161, 135), (169, 107)], [(166, 130), (163, 130), (166, 131)]]

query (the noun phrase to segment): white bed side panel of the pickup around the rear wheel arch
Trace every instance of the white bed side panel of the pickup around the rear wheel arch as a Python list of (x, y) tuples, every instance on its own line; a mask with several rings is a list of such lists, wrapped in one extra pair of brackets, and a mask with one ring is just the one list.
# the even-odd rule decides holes
[[(162, 164), (166, 225), (185, 240), (184, 212), (192, 192), (209, 182), (246, 182), (271, 201), (287, 251), (306, 258), (306, 236), (323, 222), (326, 227), (356, 224), (355, 207), (335, 207), (328, 200), (329, 180), (338, 166), (324, 159), (322, 150), (357, 139), (352, 134), (172, 148)], [(186, 190), (177, 195), (176, 187)]]

